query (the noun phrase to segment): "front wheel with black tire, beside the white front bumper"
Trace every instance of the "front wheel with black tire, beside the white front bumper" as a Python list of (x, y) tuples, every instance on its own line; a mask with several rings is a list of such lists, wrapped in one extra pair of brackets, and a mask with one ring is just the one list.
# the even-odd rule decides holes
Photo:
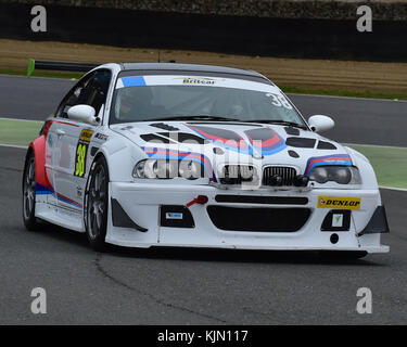
[(86, 233), (90, 246), (97, 252), (106, 249), (109, 170), (107, 163), (100, 156), (92, 165), (87, 192)]

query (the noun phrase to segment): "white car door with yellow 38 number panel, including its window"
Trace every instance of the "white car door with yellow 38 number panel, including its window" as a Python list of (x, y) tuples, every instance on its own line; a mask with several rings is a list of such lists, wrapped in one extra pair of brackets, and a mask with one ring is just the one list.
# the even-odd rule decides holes
[(91, 164), (90, 142), (98, 126), (69, 119), (67, 112), (72, 106), (86, 104), (102, 118), (100, 113), (104, 110), (111, 76), (109, 69), (99, 69), (86, 76), (73, 88), (56, 113), (55, 132), (61, 156), (54, 174), (55, 194), (60, 211), (68, 215), (82, 211)]

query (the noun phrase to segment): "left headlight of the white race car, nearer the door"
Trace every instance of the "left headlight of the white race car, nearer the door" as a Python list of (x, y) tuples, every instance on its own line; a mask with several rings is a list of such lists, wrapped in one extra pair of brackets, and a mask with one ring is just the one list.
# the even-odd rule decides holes
[(175, 177), (195, 180), (205, 177), (202, 165), (188, 158), (182, 160), (145, 159), (136, 164), (132, 177), (144, 179), (171, 179)]

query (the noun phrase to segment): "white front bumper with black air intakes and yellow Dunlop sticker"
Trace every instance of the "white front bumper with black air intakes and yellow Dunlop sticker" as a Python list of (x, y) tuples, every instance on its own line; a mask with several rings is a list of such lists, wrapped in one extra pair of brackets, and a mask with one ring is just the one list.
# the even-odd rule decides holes
[[(117, 220), (113, 222), (112, 213), (109, 214), (109, 228), (106, 234), (106, 242), (129, 247), (151, 247), (151, 246), (186, 246), (186, 247), (216, 247), (216, 248), (240, 248), (240, 249), (281, 249), (281, 250), (361, 250), (368, 253), (385, 253), (389, 247), (380, 244), (380, 233), (387, 232), (385, 227), (386, 221), (383, 219), (383, 210), (380, 208), (381, 198), (379, 190), (330, 190), (330, 189), (313, 189), (308, 191), (287, 190), (224, 190), (212, 185), (186, 185), (186, 184), (162, 184), (162, 183), (133, 183), (133, 182), (111, 182), (110, 183), (110, 211), (112, 211), (112, 202), (115, 200), (125, 215), (133, 222), (126, 223)], [(193, 204), (186, 207), (188, 203), (192, 202), (199, 195), (207, 196), (206, 204)], [(243, 196), (244, 202), (220, 202), (218, 195)], [(250, 198), (247, 200), (246, 196)], [(358, 209), (348, 209), (340, 206), (335, 208), (321, 208), (318, 204), (321, 196), (360, 198)], [(277, 197), (274, 201), (266, 198), (258, 203), (257, 197)], [(283, 197), (289, 197), (284, 201)], [(295, 200), (295, 197), (303, 197), (303, 200)], [(283, 198), (283, 200), (281, 200)], [(305, 198), (305, 200), (304, 200)], [(238, 198), (239, 201), (239, 198)], [(249, 203), (247, 203), (249, 201)], [(255, 203), (254, 203), (254, 202)], [(300, 202), (300, 204), (297, 204)], [(190, 224), (185, 228), (177, 224), (175, 227), (163, 226), (163, 208), (183, 207), (187, 208), (193, 219), (193, 226)], [(225, 207), (228, 207), (225, 209)], [(377, 209), (381, 209), (378, 215)], [(208, 208), (217, 210), (217, 221), (211, 218)], [(244, 210), (242, 209), (244, 208)], [(244, 218), (251, 217), (251, 210), (256, 211), (254, 215), (257, 219), (262, 216), (262, 209), (265, 211), (267, 218), (279, 209), (276, 219), (276, 224), (280, 228), (274, 231), (258, 231), (254, 229), (247, 230), (230, 230), (228, 226), (239, 223), (239, 220), (247, 220)], [(291, 230), (283, 230), (281, 226), (284, 224), (283, 209), (290, 210), (287, 215), (287, 224), (291, 226)], [(300, 221), (301, 228), (293, 227), (289, 218), (296, 218), (297, 210), (309, 210), (309, 217)], [(117, 210), (117, 209), (116, 209)], [(171, 209), (169, 209), (171, 210)], [(178, 209), (177, 209), (178, 210)], [(225, 214), (225, 223), (221, 222)], [(331, 211), (332, 210), (332, 211)], [(229, 214), (229, 211), (238, 213), (238, 215)], [(239, 216), (242, 211), (246, 217)], [(259, 214), (260, 211), (260, 214)], [(341, 230), (341, 228), (332, 227), (329, 223), (328, 228), (322, 228), (323, 221), (331, 222), (331, 215), (341, 213), (349, 215), (348, 230)], [(271, 214), (271, 215), (270, 215)], [(328, 214), (331, 214), (327, 217)], [(123, 214), (122, 214), (123, 215)], [(166, 214), (164, 214), (165, 216)], [(241, 214), (242, 215), (242, 214)], [(376, 217), (374, 217), (374, 216)], [(175, 219), (179, 216), (174, 215)], [(293, 217), (294, 216), (294, 217)], [(213, 216), (212, 216), (213, 217)], [(265, 217), (265, 218), (266, 218)], [(276, 218), (277, 218), (276, 217)], [(377, 220), (374, 228), (369, 227), (372, 223), (372, 217)], [(165, 218), (165, 217), (164, 217)], [(173, 218), (173, 217), (171, 217)], [(239, 219), (240, 218), (240, 219)], [(243, 219), (242, 219), (243, 218)], [(281, 218), (283, 220), (281, 220)], [(341, 218), (341, 217), (339, 217)], [(344, 217), (343, 217), (344, 218)], [(379, 218), (379, 219), (378, 219)], [(385, 214), (384, 214), (385, 218)], [(230, 219), (236, 219), (234, 221)], [(128, 221), (128, 220), (127, 220)], [(171, 221), (169, 221), (170, 223)], [(269, 222), (269, 221), (267, 221)], [(334, 223), (332, 221), (332, 223)], [(167, 223), (164, 223), (167, 224)], [(270, 226), (274, 224), (270, 222)], [(294, 223), (295, 224), (295, 223)], [(136, 226), (136, 227), (135, 227)], [(238, 226), (238, 224), (237, 224)], [(253, 220), (253, 226), (262, 226), (262, 221), (256, 223)], [(140, 227), (137, 228), (137, 227)], [(247, 226), (237, 229), (245, 229)], [(275, 226), (276, 227), (276, 226)], [(367, 229), (367, 227), (369, 227)], [(226, 230), (228, 229), (228, 230)], [(247, 229), (247, 228), (246, 228)], [(271, 228), (272, 229), (272, 228)], [(297, 229), (296, 231), (293, 231)], [(321, 230), (323, 229), (323, 230)], [(342, 228), (343, 229), (343, 228)], [(346, 229), (346, 228), (345, 228)], [(367, 232), (370, 230), (370, 232)], [(335, 236), (332, 236), (335, 234)], [(338, 239), (338, 240), (336, 240)]]

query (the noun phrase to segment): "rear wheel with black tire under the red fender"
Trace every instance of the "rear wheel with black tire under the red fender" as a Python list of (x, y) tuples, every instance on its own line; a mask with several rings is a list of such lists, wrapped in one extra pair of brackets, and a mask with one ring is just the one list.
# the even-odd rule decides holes
[(28, 154), (23, 174), (23, 220), (28, 231), (38, 230), (36, 218), (36, 159), (34, 152)]

